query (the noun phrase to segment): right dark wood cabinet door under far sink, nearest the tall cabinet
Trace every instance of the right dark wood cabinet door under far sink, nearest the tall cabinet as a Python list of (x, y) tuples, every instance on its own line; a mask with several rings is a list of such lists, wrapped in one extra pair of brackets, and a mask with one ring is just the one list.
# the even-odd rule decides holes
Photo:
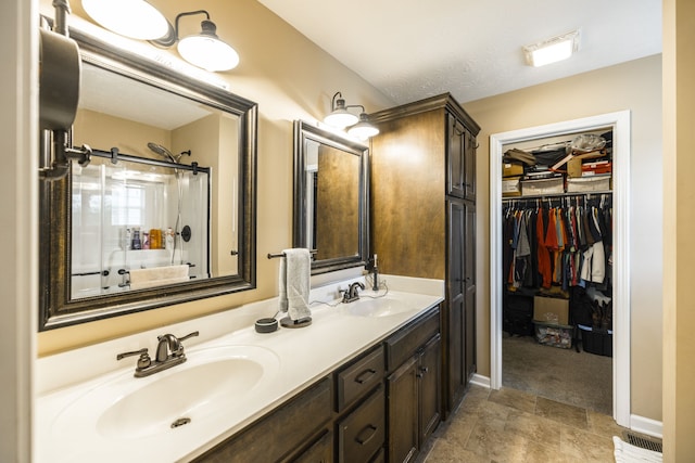
[(442, 416), (441, 364), (442, 340), (437, 335), (422, 349), (418, 364), (420, 394), (419, 447), (422, 448), (430, 438)]

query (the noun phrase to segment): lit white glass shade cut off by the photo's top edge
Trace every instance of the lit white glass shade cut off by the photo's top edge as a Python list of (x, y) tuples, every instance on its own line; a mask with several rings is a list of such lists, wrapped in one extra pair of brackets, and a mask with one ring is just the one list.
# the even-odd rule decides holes
[(83, 8), (99, 25), (139, 40), (164, 37), (169, 23), (144, 0), (83, 0)]

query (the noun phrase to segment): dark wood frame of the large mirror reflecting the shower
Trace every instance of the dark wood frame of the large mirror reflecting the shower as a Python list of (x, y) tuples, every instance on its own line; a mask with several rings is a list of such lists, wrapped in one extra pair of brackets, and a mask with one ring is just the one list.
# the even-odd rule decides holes
[(108, 42), (71, 30), (84, 62), (184, 95), (239, 118), (238, 273), (148, 290), (71, 299), (71, 176), (39, 182), (39, 331), (251, 290), (256, 284), (257, 105)]

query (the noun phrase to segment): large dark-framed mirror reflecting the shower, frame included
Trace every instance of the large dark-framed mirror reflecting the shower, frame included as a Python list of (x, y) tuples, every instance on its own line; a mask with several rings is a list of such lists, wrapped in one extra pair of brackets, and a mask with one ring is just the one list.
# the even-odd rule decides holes
[(256, 104), (71, 37), (83, 72), (68, 145), (93, 154), (40, 181), (39, 330), (255, 287)]

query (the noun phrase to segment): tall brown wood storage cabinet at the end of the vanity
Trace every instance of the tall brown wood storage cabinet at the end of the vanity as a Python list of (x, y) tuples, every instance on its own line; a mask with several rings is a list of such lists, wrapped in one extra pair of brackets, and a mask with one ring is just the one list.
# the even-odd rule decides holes
[(476, 137), (480, 127), (445, 93), (370, 115), (371, 243), (382, 273), (445, 281), (446, 414), (476, 371)]

